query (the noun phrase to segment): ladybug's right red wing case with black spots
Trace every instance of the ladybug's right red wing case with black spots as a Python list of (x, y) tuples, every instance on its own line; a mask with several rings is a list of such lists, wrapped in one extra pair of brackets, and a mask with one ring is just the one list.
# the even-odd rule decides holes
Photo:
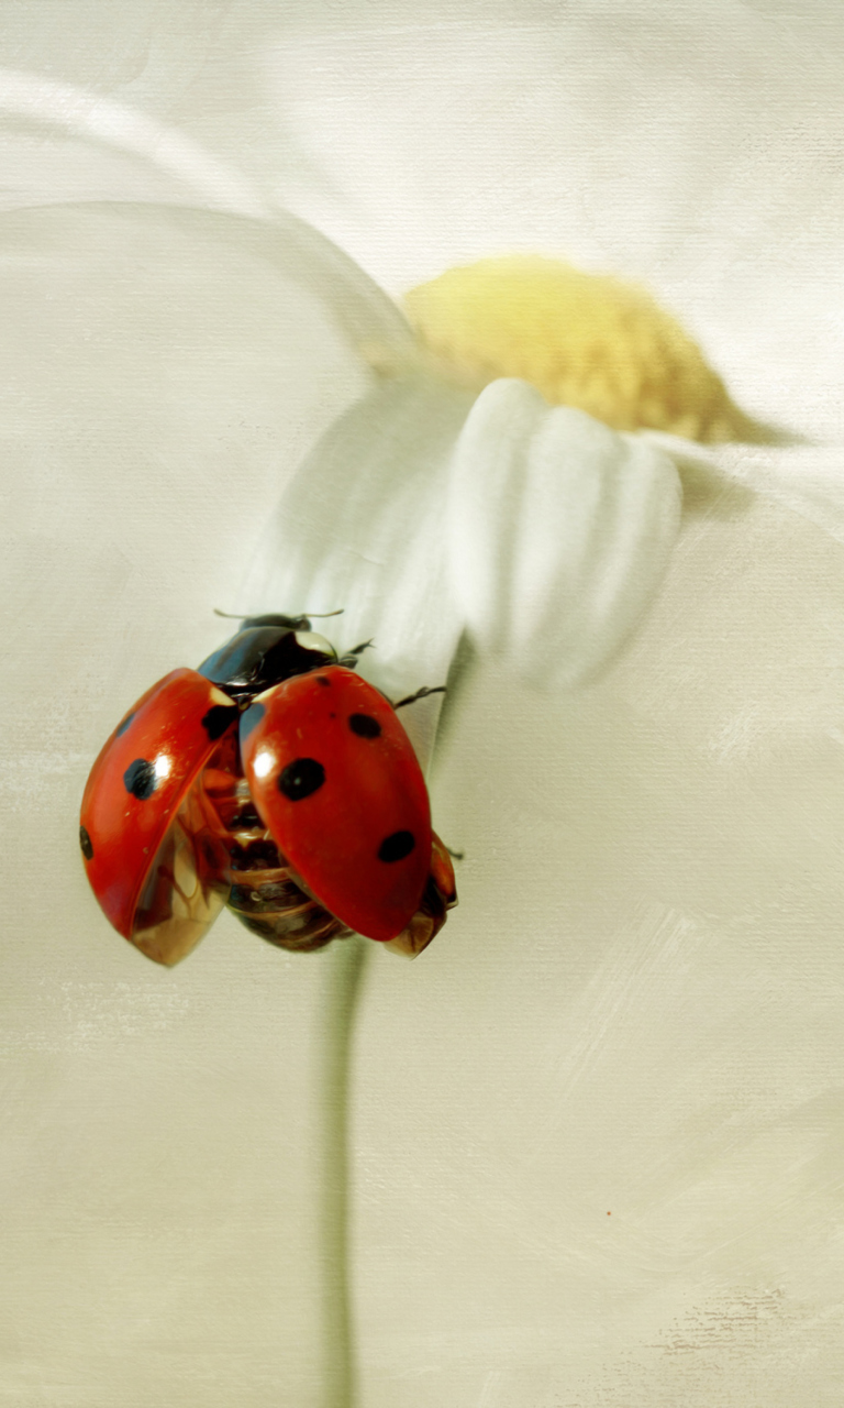
[[(253, 700), (241, 752), (255, 805), (305, 887), (357, 934), (401, 934), (430, 870), (430, 807), (387, 700), (343, 666), (294, 676)], [(280, 781), (297, 760), (316, 763), (324, 781), (294, 800)], [(409, 852), (380, 859), (407, 836)], [(391, 848), (394, 838), (404, 841)]]

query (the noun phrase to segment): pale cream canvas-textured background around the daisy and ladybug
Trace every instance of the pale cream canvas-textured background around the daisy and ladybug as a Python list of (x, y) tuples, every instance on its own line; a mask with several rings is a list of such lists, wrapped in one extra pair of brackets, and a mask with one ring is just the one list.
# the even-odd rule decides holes
[[(31, 0), (0, 63), (7, 210), (287, 206), (391, 293), (513, 248), (644, 279), (836, 503), (833, 0)], [(76, 810), (362, 373), (236, 239), (58, 221), (0, 220), (0, 1401), (312, 1408), (328, 957), (224, 917), (153, 969)], [(357, 1035), (363, 1408), (841, 1402), (843, 553), (726, 490), (589, 690), (470, 679), (433, 780), (461, 905), (374, 955)]]

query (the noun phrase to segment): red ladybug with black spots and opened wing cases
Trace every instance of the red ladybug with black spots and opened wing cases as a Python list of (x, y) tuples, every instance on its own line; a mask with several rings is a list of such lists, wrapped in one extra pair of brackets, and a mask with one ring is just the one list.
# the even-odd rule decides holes
[(457, 903), (398, 704), (308, 617), (260, 615), (117, 725), (79, 839), (108, 921), (173, 964), (224, 905), (309, 952), (357, 932), (414, 956)]

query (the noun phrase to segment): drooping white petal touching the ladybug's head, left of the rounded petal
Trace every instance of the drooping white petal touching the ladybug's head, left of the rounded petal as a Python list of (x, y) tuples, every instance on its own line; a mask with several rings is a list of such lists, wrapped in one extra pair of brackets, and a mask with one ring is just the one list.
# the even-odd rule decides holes
[[(471, 397), (414, 377), (374, 390), (325, 434), (284, 490), (243, 584), (252, 611), (342, 608), (343, 650), (392, 698), (445, 684), (463, 628), (446, 565), (453, 448)], [(402, 722), (428, 759), (440, 696)]]

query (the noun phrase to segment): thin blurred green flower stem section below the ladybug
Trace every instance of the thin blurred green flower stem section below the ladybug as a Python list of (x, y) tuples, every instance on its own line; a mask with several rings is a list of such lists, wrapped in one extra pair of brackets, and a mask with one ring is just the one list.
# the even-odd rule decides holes
[(369, 945), (335, 942), (324, 962), (318, 1018), (318, 1246), (324, 1369), (321, 1408), (354, 1408), (356, 1364), (349, 1287), (349, 1064)]

